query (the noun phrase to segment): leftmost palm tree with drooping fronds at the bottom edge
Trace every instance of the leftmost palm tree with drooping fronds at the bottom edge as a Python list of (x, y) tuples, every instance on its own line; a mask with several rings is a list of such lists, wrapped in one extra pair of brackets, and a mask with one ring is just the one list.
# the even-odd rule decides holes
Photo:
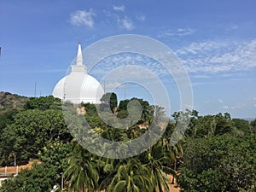
[(69, 191), (96, 191), (99, 174), (96, 170), (96, 160), (79, 144), (73, 148), (73, 156), (68, 160), (68, 168), (64, 173), (68, 181)]

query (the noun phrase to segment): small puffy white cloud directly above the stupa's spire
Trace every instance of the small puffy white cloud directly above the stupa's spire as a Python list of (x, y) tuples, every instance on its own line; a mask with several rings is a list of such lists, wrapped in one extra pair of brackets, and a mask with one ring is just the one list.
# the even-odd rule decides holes
[(93, 17), (96, 16), (96, 13), (93, 9), (89, 11), (86, 10), (77, 10), (70, 15), (70, 23), (73, 26), (89, 26), (92, 28), (94, 26)]

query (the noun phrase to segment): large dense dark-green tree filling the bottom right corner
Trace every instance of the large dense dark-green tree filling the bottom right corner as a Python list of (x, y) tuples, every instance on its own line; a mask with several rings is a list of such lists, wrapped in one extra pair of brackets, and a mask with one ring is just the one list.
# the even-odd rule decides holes
[(255, 136), (191, 139), (184, 149), (183, 191), (255, 190)]

